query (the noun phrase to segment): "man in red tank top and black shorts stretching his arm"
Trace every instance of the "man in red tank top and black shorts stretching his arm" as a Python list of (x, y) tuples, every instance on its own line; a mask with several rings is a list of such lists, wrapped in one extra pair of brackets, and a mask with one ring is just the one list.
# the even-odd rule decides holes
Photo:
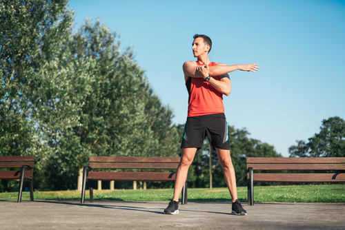
[(234, 70), (259, 70), (257, 64), (225, 65), (208, 59), (212, 41), (206, 35), (193, 36), (193, 54), (197, 61), (186, 61), (183, 65), (184, 80), (188, 90), (188, 116), (181, 143), (181, 160), (177, 167), (174, 196), (164, 210), (166, 214), (179, 213), (179, 196), (186, 182), (188, 168), (193, 162), (197, 149), (201, 149), (205, 136), (217, 151), (219, 163), (224, 171), (226, 185), (233, 201), (232, 213), (246, 216), (246, 210), (237, 199), (235, 170), (230, 158), (228, 124), (224, 114), (223, 94), (231, 91), (229, 72)]

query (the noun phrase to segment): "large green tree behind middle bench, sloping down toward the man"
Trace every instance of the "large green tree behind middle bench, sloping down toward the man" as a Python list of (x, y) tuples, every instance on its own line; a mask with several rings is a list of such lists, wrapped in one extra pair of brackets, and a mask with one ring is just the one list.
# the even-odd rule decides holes
[(120, 52), (117, 34), (99, 20), (87, 19), (73, 41), (76, 61), (95, 62), (88, 69), (92, 92), (74, 127), (79, 167), (89, 156), (174, 156), (179, 144), (172, 111), (153, 93), (132, 48)]

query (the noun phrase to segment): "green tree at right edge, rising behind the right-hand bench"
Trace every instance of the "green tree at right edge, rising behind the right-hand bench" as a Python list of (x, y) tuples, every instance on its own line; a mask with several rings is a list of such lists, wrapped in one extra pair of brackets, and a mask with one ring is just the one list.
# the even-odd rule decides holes
[(334, 116), (322, 121), (319, 134), (297, 140), (288, 148), (291, 157), (341, 157), (345, 156), (345, 121)]

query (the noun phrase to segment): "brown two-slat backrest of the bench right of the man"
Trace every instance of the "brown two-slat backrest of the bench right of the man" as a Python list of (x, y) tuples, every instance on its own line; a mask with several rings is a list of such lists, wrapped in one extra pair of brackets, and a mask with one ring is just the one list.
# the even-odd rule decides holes
[(248, 157), (253, 170), (344, 170), (345, 157), (270, 158)]

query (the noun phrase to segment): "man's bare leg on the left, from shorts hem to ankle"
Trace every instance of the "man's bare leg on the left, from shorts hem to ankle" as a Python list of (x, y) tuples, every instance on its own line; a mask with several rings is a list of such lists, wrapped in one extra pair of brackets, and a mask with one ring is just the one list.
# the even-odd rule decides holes
[(181, 194), (182, 188), (184, 187), (184, 183), (187, 179), (188, 169), (193, 163), (196, 152), (197, 148), (182, 148), (181, 160), (176, 171), (174, 196), (172, 198), (174, 201), (179, 201), (179, 195)]

